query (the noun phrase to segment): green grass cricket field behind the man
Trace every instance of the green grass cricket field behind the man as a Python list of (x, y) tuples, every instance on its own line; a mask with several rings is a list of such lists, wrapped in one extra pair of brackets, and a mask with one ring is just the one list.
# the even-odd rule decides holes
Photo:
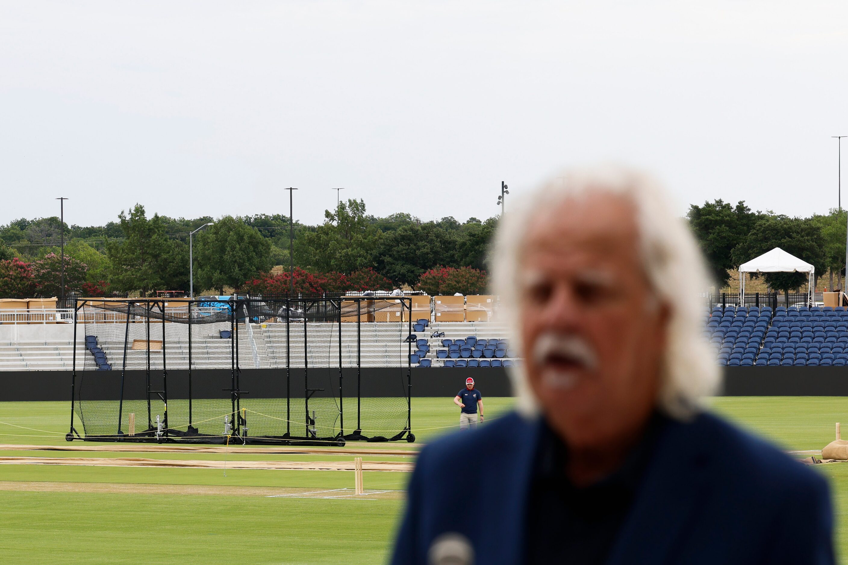
[[(510, 399), (487, 398), (488, 418), (510, 408)], [(418, 443), (382, 444), (416, 449), (455, 429), (450, 399), (415, 399)], [(787, 451), (821, 449), (834, 422), (848, 423), (848, 400), (833, 397), (716, 398), (713, 409)], [(66, 402), (0, 403), (0, 443), (68, 445)], [(73, 446), (92, 444), (75, 441)], [(349, 447), (360, 446), (349, 444)], [(361, 445), (366, 446), (366, 445)], [(367, 445), (374, 446), (373, 444)], [(228, 461), (334, 461), (349, 455), (0, 451), (0, 457), (146, 457)], [(367, 456), (366, 461), (412, 457)], [(848, 555), (843, 524), (848, 512), (848, 464), (818, 466), (828, 477), (837, 513), (836, 542)], [(409, 474), (365, 472), (365, 488), (403, 490)], [(0, 556), (4, 563), (374, 563), (384, 562), (403, 510), (402, 496), (388, 498), (282, 498), (243, 496), (240, 488), (331, 490), (352, 488), (353, 473), (267, 469), (131, 468), (67, 465), (0, 465)], [(97, 485), (92, 485), (97, 484)], [(109, 492), (90, 492), (105, 485)], [(146, 487), (145, 485), (154, 485)], [(161, 486), (155, 486), (161, 485)], [(180, 486), (182, 485), (182, 486)], [(194, 486), (192, 486), (194, 485)], [(42, 486), (54, 490), (42, 491)], [(144, 487), (145, 492), (138, 492)], [(207, 487), (212, 494), (181, 494)], [(231, 488), (226, 495), (215, 494)], [(13, 490), (17, 489), (17, 490)], [(126, 492), (121, 492), (126, 489)]]

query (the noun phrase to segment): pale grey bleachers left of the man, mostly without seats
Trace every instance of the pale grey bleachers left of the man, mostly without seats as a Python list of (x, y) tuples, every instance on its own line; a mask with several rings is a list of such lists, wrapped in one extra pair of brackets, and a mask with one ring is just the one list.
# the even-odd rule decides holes
[[(427, 324), (424, 324), (427, 322)], [(506, 339), (508, 329), (493, 322), (449, 322), (432, 324), (418, 320), (424, 331), (409, 335), (408, 323), (363, 323), (361, 349), (357, 352), (356, 324), (342, 324), (343, 366), (390, 367), (405, 364), (410, 353), (417, 356), (416, 367), (471, 366), (496, 367), (495, 360), (503, 365), (515, 363), (516, 353)], [(114, 327), (111, 327), (113, 326)], [(82, 328), (83, 326), (81, 326)], [(175, 324), (167, 327), (167, 363), (172, 369), (188, 367), (188, 343), (185, 328)], [(126, 352), (126, 368), (147, 367), (146, 347), (135, 347), (133, 341), (144, 341), (142, 324), (131, 325), (131, 343)], [(90, 335), (85, 335), (87, 331)], [(153, 341), (161, 340), (159, 326), (152, 329)], [(302, 332), (298, 327), (297, 331)], [(238, 335), (239, 363), (242, 368), (277, 368), (285, 366), (285, 324), (250, 324), (240, 326)], [(309, 327), (309, 347), (304, 352), (302, 341), (292, 341), (290, 354), (292, 366), (304, 363), (304, 353), (310, 367), (326, 367), (338, 363), (338, 326), (320, 324)], [(91, 334), (96, 335), (91, 335)], [(330, 334), (332, 333), (332, 337)], [(412, 338), (406, 343), (407, 337)], [(70, 336), (69, 336), (70, 337)], [(298, 340), (300, 336), (298, 335)], [(117, 370), (124, 365), (124, 329), (121, 324), (105, 324), (95, 329), (86, 328), (78, 336), (76, 349), (77, 370)], [(319, 345), (319, 344), (326, 344)], [(455, 344), (454, 348), (449, 345)], [(192, 341), (192, 368), (220, 368), (229, 366), (226, 361), (232, 348), (229, 330), (220, 326), (195, 327)], [(73, 341), (31, 341), (0, 343), (0, 370), (70, 370), (73, 367)], [(151, 368), (161, 370), (161, 352), (151, 350)], [(447, 363), (448, 361), (464, 363)], [(488, 363), (484, 363), (488, 362)]]

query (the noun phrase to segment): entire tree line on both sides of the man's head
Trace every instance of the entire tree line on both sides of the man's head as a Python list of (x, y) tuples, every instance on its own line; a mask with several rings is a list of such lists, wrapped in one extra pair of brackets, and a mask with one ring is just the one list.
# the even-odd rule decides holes
[[(730, 271), (774, 247), (812, 263), (817, 274), (827, 274), (828, 288), (844, 285), (844, 210), (793, 218), (752, 211), (744, 201), (715, 200), (690, 206), (686, 218), (717, 289), (728, 286)], [(195, 294), (284, 292), (292, 286), (295, 291), (404, 286), (430, 294), (475, 294), (485, 291), (488, 249), (498, 219), (422, 222), (409, 213), (378, 218), (366, 212), (362, 200), (340, 202), (335, 210), (326, 210), (321, 224), (293, 224), (297, 269), (292, 281), (286, 215), (174, 219), (149, 216), (137, 204), (102, 226), (64, 226), (65, 292), (152, 296), (162, 290), (188, 291), (188, 233), (209, 223), (214, 224), (193, 241)], [(61, 231), (55, 217), (0, 226), (0, 297), (59, 294)], [(806, 284), (806, 274), (762, 276), (775, 291)]]

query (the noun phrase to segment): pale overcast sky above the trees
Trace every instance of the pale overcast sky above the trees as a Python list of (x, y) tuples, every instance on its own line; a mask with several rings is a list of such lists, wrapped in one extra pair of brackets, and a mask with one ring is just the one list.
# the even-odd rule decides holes
[(341, 186), (484, 219), (501, 180), (608, 159), (681, 214), (806, 216), (837, 135), (845, 2), (0, 2), (0, 224), (288, 213), (287, 186), (310, 224)]

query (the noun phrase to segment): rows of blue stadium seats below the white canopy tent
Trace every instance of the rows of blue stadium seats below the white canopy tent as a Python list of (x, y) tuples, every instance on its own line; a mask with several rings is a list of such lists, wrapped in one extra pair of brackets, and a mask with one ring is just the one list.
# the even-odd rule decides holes
[(845, 366), (848, 310), (834, 307), (714, 307), (706, 337), (718, 363), (742, 366)]

